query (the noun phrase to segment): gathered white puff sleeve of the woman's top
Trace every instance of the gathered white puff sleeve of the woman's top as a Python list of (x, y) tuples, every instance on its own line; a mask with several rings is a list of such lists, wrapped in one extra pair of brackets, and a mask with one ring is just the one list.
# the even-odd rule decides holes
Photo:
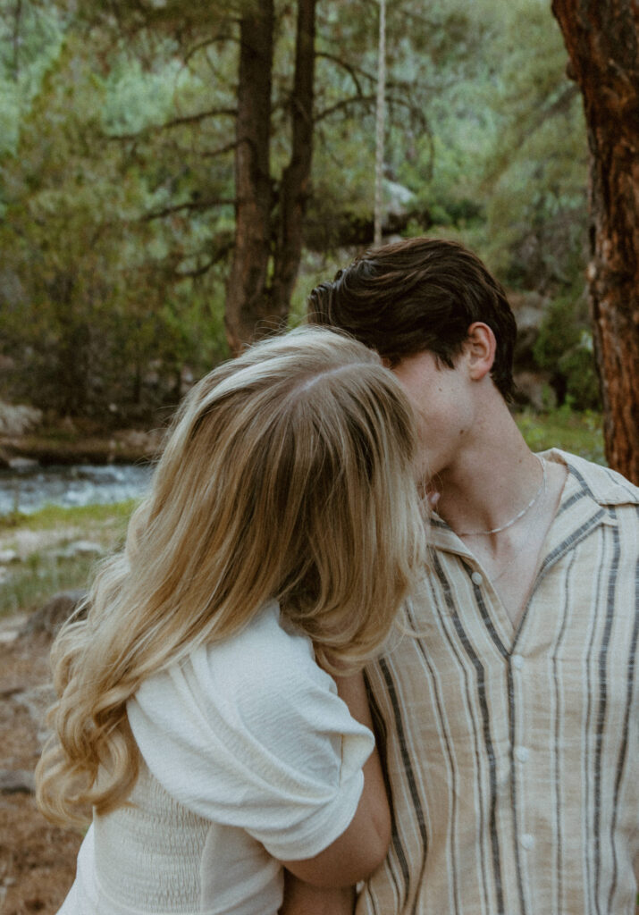
[(352, 821), (374, 748), (307, 638), (271, 605), (231, 639), (141, 685), (127, 705), (146, 765), (194, 813), (273, 856), (312, 857)]

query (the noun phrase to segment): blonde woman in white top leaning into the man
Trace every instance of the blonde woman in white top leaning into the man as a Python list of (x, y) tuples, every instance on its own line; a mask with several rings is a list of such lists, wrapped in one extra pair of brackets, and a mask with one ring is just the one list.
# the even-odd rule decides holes
[(284, 864), (338, 887), (383, 859), (362, 680), (337, 677), (343, 701), (330, 673), (381, 648), (419, 574), (414, 447), (393, 375), (330, 330), (187, 396), (53, 649), (38, 802), (92, 820), (64, 915), (274, 915)]

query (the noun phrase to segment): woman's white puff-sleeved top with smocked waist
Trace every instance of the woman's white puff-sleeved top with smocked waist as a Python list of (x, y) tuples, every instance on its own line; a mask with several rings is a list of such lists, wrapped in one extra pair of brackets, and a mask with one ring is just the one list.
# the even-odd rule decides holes
[(374, 739), (271, 604), (127, 705), (143, 765), (95, 816), (60, 915), (275, 915), (285, 860), (349, 825)]

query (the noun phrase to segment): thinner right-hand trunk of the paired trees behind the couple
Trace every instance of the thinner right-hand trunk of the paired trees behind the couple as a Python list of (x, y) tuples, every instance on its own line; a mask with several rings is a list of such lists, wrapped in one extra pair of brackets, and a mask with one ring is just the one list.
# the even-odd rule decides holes
[(273, 313), (287, 319), (302, 254), (304, 214), (309, 199), (313, 155), (313, 81), (315, 75), (315, 6), (298, 0), (295, 77), (291, 96), (291, 156), (282, 175), (273, 270)]

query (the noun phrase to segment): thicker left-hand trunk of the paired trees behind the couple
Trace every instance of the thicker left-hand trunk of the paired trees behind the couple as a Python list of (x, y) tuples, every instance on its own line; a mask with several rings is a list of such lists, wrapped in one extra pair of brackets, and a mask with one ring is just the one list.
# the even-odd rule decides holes
[[(265, 296), (270, 256), (273, 0), (252, 4), (240, 26), (235, 149), (235, 245), (224, 324), (233, 354), (269, 330)], [(265, 322), (265, 323), (260, 323)]]

